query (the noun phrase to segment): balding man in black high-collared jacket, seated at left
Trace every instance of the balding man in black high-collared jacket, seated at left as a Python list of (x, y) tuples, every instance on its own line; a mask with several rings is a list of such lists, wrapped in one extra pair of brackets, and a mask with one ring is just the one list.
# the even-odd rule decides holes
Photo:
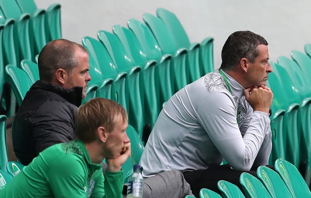
[(49, 42), (38, 58), (40, 80), (26, 93), (12, 126), (13, 149), (29, 164), (45, 148), (74, 139), (74, 120), (91, 77), (86, 49)]

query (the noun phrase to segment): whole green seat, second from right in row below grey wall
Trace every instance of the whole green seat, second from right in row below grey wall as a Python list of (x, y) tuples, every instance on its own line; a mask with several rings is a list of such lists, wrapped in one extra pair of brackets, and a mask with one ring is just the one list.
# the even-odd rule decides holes
[(162, 54), (172, 54), (171, 83), (173, 84), (174, 92), (177, 92), (190, 83), (190, 76), (187, 73), (190, 69), (187, 68), (186, 64), (187, 49), (177, 49), (173, 41), (173, 36), (160, 18), (145, 13), (143, 20), (155, 36)]

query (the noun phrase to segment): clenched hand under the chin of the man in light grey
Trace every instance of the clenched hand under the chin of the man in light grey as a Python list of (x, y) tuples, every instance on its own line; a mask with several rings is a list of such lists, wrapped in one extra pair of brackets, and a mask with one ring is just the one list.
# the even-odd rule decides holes
[(263, 111), (269, 114), (273, 99), (273, 93), (270, 88), (262, 85), (260, 87), (247, 88), (243, 91), (246, 101), (254, 111)]

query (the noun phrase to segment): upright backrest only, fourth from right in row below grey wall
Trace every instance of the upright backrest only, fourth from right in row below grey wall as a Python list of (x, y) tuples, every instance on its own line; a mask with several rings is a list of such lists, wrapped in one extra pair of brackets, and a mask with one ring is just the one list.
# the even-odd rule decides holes
[(112, 27), (113, 33), (118, 36), (127, 54), (130, 54), (135, 65), (143, 67), (147, 62), (147, 55), (134, 33), (121, 25)]

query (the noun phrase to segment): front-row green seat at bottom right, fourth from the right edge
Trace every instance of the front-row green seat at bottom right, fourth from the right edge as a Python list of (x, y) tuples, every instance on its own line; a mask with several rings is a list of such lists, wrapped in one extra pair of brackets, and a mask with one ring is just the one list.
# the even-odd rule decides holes
[(219, 180), (217, 186), (223, 198), (245, 198), (240, 188), (229, 181)]

